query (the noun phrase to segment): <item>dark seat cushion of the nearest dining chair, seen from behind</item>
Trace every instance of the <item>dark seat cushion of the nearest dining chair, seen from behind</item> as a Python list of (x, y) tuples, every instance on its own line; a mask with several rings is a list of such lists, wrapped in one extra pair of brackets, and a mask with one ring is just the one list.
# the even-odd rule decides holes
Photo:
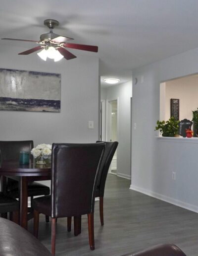
[(32, 207), (40, 213), (51, 216), (51, 195), (45, 195), (33, 199)]

